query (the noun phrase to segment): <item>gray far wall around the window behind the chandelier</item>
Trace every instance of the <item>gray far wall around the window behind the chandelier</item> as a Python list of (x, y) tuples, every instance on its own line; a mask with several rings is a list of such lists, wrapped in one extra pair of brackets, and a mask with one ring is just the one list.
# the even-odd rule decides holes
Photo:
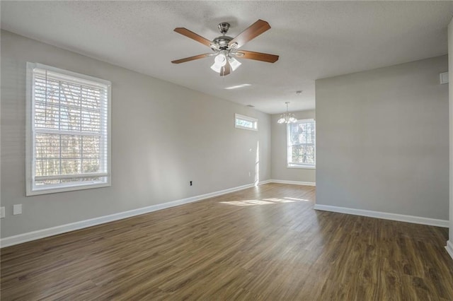
[[(293, 112), (297, 119), (314, 119), (314, 110)], [(287, 181), (316, 182), (316, 170), (288, 168), (286, 162), (286, 124), (277, 124), (280, 114), (272, 115), (271, 177)]]

